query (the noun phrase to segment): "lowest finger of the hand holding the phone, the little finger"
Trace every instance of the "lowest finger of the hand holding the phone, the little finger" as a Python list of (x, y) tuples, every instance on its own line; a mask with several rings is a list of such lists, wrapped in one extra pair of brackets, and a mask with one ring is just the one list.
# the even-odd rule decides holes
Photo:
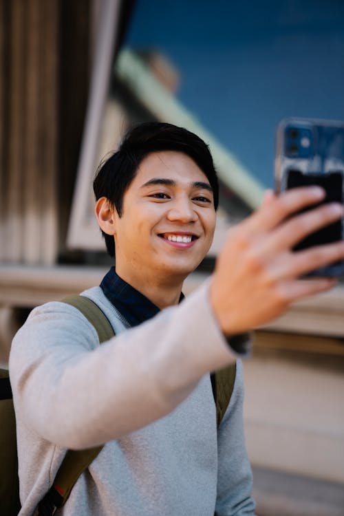
[(312, 279), (298, 279), (295, 281), (288, 281), (280, 286), (281, 295), (286, 299), (287, 303), (299, 301), (305, 297), (320, 294), (333, 288), (338, 283), (337, 279), (333, 278), (312, 278)]

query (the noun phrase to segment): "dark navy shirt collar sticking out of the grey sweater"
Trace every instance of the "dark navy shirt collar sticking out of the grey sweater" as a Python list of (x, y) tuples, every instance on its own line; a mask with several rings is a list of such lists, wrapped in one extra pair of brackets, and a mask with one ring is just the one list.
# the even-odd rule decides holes
[[(100, 288), (129, 326), (137, 326), (160, 312), (160, 308), (116, 274), (111, 267), (100, 283)], [(180, 301), (184, 295), (180, 294)]]

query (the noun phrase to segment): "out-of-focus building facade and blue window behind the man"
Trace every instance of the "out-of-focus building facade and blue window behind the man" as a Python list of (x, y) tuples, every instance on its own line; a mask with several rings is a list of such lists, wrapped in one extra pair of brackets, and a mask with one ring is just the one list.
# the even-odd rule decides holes
[[(0, 352), (111, 260), (92, 178), (125, 130), (187, 127), (220, 180), (211, 273), (272, 188), (281, 118), (344, 120), (341, 0), (0, 0)], [(255, 332), (245, 428), (260, 516), (344, 515), (344, 287)]]

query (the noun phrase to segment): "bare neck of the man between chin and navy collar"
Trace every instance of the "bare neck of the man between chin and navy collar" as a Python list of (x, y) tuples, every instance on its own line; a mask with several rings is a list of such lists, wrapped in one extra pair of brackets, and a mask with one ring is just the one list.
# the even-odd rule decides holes
[(142, 275), (138, 277), (130, 275), (128, 277), (124, 271), (118, 270), (118, 268), (116, 268), (116, 273), (158, 306), (160, 310), (179, 303), (184, 277), (178, 279), (173, 277), (173, 279), (168, 280), (166, 278), (161, 280), (158, 277), (144, 277), (142, 281)]

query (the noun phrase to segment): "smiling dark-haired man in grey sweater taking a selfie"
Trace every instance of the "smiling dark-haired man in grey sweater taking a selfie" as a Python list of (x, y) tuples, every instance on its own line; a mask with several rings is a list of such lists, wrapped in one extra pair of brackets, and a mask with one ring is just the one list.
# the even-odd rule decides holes
[[(116, 265), (83, 295), (116, 336), (100, 346), (76, 308), (53, 302), (33, 310), (14, 338), (21, 515), (34, 513), (66, 449), (105, 443), (61, 515), (252, 516), (239, 361), (249, 352), (245, 334), (334, 285), (299, 277), (343, 259), (343, 244), (291, 249), (343, 210), (290, 217), (323, 191), (268, 193), (230, 231), (211, 279), (182, 301), (182, 283), (215, 228), (218, 186), (206, 144), (172, 125), (140, 125), (100, 166), (94, 191)], [(217, 431), (209, 372), (236, 360)]]

